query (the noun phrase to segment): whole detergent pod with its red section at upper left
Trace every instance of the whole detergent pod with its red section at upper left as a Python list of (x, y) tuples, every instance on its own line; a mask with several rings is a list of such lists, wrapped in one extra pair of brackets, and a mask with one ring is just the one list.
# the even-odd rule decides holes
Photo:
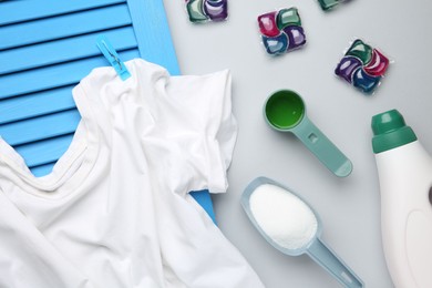
[(297, 8), (284, 8), (258, 16), (263, 44), (268, 54), (279, 55), (306, 44)]

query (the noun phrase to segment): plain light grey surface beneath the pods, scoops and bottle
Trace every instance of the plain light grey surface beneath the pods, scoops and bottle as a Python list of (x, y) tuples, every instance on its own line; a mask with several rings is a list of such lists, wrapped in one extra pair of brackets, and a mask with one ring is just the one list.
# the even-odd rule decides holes
[[(352, 0), (323, 12), (317, 0), (229, 0), (222, 23), (188, 22), (184, 0), (164, 0), (183, 74), (223, 69), (233, 73), (239, 134), (227, 194), (213, 196), (222, 232), (268, 288), (339, 287), (307, 256), (285, 256), (268, 245), (240, 207), (257, 176), (274, 178), (306, 198), (323, 223), (322, 239), (367, 287), (392, 287), (381, 245), (380, 191), (371, 148), (372, 115), (398, 109), (429, 152), (432, 106), (432, 1)], [(307, 45), (268, 55), (257, 16), (297, 7)], [(350, 42), (361, 38), (394, 62), (381, 86), (366, 96), (333, 74)], [(291, 89), (308, 116), (352, 161), (346, 178), (333, 176), (290, 134), (270, 130), (261, 109), (269, 93)]]

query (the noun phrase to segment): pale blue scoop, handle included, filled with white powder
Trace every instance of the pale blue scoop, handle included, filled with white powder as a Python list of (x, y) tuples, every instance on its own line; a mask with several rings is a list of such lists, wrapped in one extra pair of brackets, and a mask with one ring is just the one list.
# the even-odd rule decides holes
[[(243, 193), (241, 206), (255, 228), (279, 251), (290, 256), (307, 254), (344, 287), (363, 287), (362, 280), (320, 239), (322, 225), (317, 213), (287, 187), (258, 177)], [(287, 209), (292, 210), (289, 214)], [(284, 220), (294, 228), (286, 229)]]

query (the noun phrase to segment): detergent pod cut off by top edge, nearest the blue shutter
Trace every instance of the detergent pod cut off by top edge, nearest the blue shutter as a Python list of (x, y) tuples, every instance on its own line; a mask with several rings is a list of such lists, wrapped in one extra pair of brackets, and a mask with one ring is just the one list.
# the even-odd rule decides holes
[(189, 21), (202, 23), (228, 18), (228, 0), (186, 0)]

